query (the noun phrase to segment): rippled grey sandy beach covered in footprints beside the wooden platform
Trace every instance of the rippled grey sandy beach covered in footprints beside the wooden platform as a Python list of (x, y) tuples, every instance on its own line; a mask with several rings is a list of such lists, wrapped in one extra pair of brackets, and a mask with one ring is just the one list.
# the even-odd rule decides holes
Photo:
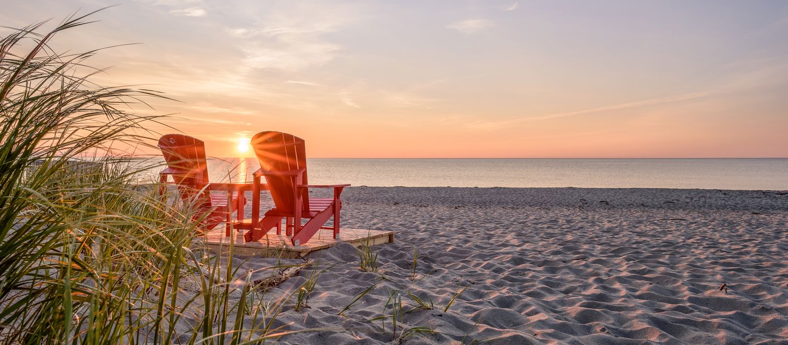
[[(343, 212), (344, 226), (394, 230), (396, 243), (374, 247), (377, 273), (349, 244), (311, 254), (328, 270), (310, 308), (276, 322), (325, 330), (281, 343), (389, 343), (391, 322), (369, 320), (391, 313), (393, 290), (433, 302), (403, 314), (404, 328), (437, 332), (411, 344), (788, 343), (784, 191), (351, 187)], [(402, 294), (403, 310), (418, 306)]]

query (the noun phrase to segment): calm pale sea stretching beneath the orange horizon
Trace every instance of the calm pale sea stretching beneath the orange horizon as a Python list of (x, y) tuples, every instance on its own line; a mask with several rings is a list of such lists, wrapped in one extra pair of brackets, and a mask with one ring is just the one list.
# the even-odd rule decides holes
[[(311, 158), (310, 184), (788, 190), (788, 158)], [(251, 180), (255, 158), (211, 158), (210, 180)], [(152, 178), (153, 176), (151, 176)]]

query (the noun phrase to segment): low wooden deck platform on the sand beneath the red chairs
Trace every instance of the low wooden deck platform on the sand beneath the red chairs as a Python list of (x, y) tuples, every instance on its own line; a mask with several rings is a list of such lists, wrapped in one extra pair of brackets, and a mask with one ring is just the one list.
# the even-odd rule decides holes
[(227, 252), (230, 250), (230, 241), (234, 240), (232, 244), (236, 254), (272, 256), (282, 254), (284, 251), (286, 255), (282, 254), (282, 256), (291, 258), (306, 255), (314, 250), (334, 247), (341, 242), (351, 243), (355, 247), (365, 244), (374, 246), (394, 242), (394, 232), (392, 231), (362, 230), (357, 228), (341, 228), (339, 239), (332, 238), (332, 230), (321, 229), (314, 234), (309, 242), (300, 246), (293, 246), (288, 236), (284, 235), (284, 231), (281, 235), (277, 235), (276, 230), (271, 230), (263, 239), (251, 243), (244, 242), (243, 232), (235, 232), (235, 236), (225, 236), (225, 227), (220, 224), (214, 230), (208, 232), (206, 236), (195, 239), (195, 241), (202, 241), (205, 247), (210, 250)]

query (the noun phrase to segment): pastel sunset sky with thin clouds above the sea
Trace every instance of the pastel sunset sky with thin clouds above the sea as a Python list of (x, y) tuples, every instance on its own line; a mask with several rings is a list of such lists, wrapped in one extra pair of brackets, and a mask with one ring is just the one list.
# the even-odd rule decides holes
[(314, 158), (788, 157), (783, 1), (0, 3), (16, 28), (117, 5), (54, 46), (140, 43), (94, 81), (177, 99), (129, 111), (214, 157), (269, 130)]

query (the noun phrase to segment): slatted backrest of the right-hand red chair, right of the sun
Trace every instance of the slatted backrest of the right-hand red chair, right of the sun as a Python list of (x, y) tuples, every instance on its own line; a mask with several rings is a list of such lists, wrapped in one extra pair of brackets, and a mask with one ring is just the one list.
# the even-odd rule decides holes
[[(298, 169), (303, 171), (302, 184), (307, 181), (307, 153), (303, 139), (296, 135), (283, 132), (259, 132), (251, 139), (251, 147), (260, 163), (260, 168), (269, 172), (285, 172)], [(294, 200), (296, 195), (296, 179), (293, 176), (266, 176), (274, 205), (281, 213), (296, 212)], [(309, 190), (301, 191), (303, 210), (309, 212)]]

